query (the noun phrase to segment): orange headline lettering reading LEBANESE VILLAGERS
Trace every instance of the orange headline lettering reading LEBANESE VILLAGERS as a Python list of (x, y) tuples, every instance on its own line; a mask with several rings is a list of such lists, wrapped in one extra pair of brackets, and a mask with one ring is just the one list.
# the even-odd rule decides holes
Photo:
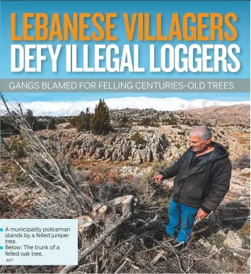
[(124, 30), (118, 17), (117, 13), (23, 13), (19, 18), (11, 13), (11, 40), (117, 41), (116, 28), (129, 41), (233, 41), (238, 37), (235, 13), (172, 13), (165, 23), (162, 13), (122, 13)]

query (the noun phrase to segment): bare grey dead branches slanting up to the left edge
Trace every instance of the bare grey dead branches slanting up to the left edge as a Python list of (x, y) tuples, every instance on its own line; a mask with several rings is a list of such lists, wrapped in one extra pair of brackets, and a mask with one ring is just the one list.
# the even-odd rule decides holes
[[(10, 110), (8, 102), (2, 94), (1, 100), (11, 126), (17, 129), (22, 136), (26, 154), (25, 162), (21, 162), (15, 156), (15, 149), (11, 149), (8, 143), (4, 142), (4, 148), (11, 160), (42, 191), (48, 195), (59, 192), (57, 193), (59, 196), (71, 196), (80, 213), (88, 212), (93, 203), (93, 198), (88, 195), (88, 186), (86, 191), (79, 189), (74, 179), (74, 172), (71, 172), (69, 168), (69, 161), (60, 159), (61, 145), (59, 140), (50, 141), (49, 148), (47, 148), (45, 141), (33, 131), (33, 125), (23, 113), (21, 104), (17, 102), (16, 106), (11, 106), (12, 110)], [(54, 151), (51, 148), (54, 148)]]

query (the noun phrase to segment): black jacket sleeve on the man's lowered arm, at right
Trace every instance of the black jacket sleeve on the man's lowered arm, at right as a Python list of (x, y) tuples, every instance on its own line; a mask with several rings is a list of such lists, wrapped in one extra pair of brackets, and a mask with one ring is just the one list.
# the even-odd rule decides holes
[(230, 160), (217, 167), (212, 177), (212, 189), (209, 196), (202, 203), (202, 210), (206, 213), (216, 210), (230, 187), (232, 165)]

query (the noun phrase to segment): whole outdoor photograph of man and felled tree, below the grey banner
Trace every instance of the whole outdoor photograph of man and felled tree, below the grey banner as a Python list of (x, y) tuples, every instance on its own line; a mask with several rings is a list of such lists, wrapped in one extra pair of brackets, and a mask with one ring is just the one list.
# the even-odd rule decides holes
[(250, 95), (133, 95), (1, 94), (1, 218), (77, 218), (83, 251), (18, 272), (247, 269)]

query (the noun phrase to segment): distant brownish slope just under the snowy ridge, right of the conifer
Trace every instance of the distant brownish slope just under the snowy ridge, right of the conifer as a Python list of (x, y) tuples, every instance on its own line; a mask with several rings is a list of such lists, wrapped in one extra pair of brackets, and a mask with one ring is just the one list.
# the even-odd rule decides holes
[[(230, 107), (204, 107), (186, 111), (157, 111), (156, 109), (121, 109), (112, 110), (112, 121), (118, 124), (122, 117), (127, 117), (135, 124), (150, 125), (183, 125), (197, 126), (206, 124), (211, 126), (241, 126), (250, 128), (250, 105), (235, 105)], [(147, 121), (148, 119), (148, 121)], [(148, 122), (148, 124), (147, 124)]]

